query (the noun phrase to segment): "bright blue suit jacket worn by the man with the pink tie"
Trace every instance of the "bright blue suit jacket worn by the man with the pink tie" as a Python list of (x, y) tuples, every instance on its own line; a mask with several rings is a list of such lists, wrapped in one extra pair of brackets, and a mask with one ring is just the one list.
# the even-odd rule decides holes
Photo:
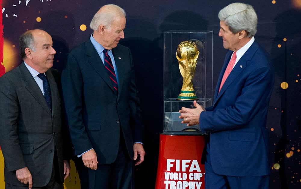
[(209, 157), (215, 173), (268, 175), (269, 144), (265, 127), (274, 72), (268, 53), (254, 41), (219, 92), (232, 52), (226, 55), (213, 106), (200, 114), (200, 128), (210, 132)]

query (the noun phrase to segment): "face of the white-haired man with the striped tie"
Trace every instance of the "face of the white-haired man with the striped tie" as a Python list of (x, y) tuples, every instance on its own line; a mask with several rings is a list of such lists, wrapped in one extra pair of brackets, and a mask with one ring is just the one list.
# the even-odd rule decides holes
[(120, 39), (124, 38), (123, 30), (126, 27), (126, 17), (124, 16), (117, 16), (111, 26), (109, 28), (104, 27), (101, 29), (102, 37), (100, 44), (105, 49), (113, 49), (117, 46)]

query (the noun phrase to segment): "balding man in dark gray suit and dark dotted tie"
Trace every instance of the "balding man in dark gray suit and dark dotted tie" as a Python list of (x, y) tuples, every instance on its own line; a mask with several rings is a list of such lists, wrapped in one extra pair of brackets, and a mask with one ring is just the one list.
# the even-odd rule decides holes
[(70, 142), (63, 141), (69, 137), (61, 122), (60, 75), (51, 68), (56, 51), (51, 36), (39, 29), (21, 35), (20, 49), (23, 62), (0, 77), (5, 188), (62, 189)]

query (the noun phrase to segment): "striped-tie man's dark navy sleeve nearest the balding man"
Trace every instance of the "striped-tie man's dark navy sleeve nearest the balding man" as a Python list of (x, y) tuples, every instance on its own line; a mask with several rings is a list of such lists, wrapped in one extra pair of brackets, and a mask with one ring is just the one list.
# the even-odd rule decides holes
[(69, 54), (61, 75), (62, 94), (66, 122), (69, 127), (75, 155), (92, 149), (82, 120), (82, 74), (77, 59)]

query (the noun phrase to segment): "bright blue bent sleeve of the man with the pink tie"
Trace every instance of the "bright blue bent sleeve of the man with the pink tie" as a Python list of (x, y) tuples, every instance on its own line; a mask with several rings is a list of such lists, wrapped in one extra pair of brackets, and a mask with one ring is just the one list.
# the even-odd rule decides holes
[[(200, 114), (201, 130), (229, 130), (250, 122), (260, 109), (268, 106), (274, 84), (273, 78), (274, 73), (269, 67), (254, 69), (245, 80), (241, 93), (233, 105), (203, 111)], [(233, 91), (233, 95), (237, 94)]]

